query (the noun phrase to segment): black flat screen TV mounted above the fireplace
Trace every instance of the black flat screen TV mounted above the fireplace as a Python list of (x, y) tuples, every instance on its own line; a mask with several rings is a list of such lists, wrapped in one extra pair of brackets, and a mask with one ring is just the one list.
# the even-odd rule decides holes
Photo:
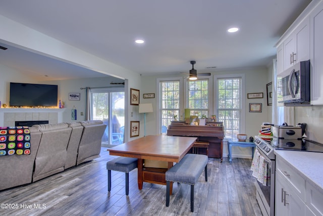
[(10, 106), (57, 106), (58, 85), (10, 82)]

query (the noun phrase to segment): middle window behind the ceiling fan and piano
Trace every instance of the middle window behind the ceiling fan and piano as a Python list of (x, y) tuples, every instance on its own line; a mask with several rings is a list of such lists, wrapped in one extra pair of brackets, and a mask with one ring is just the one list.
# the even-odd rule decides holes
[(189, 80), (187, 82), (187, 104), (191, 115), (208, 116), (209, 95), (208, 79)]

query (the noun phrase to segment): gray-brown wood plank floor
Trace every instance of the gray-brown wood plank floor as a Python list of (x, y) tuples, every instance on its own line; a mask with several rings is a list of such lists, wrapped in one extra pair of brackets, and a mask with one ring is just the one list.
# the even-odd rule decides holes
[[(262, 215), (255, 197), (251, 159), (209, 158), (208, 182), (203, 174), (195, 185), (194, 212), (190, 211), (190, 186), (174, 183), (170, 206), (166, 186), (144, 183), (138, 190), (137, 169), (129, 174), (112, 171), (107, 192), (106, 161), (114, 158), (106, 148), (101, 157), (35, 183), (0, 192), (0, 215)], [(1, 183), (0, 183), (1, 184)]]

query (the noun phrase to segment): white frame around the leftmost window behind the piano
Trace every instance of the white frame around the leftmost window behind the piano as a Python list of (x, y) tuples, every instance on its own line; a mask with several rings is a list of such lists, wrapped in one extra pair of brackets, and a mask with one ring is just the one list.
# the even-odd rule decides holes
[(156, 79), (156, 95), (157, 95), (157, 101), (156, 101), (156, 110), (158, 110), (156, 112), (156, 130), (157, 130), (157, 134), (161, 133), (161, 123), (160, 123), (160, 101), (161, 101), (161, 93), (160, 93), (160, 81), (179, 81), (180, 82), (180, 87), (179, 87), (179, 91), (180, 91), (180, 104), (179, 104), (179, 119), (181, 119), (181, 117), (183, 116), (183, 77), (171, 77), (171, 78), (157, 78)]

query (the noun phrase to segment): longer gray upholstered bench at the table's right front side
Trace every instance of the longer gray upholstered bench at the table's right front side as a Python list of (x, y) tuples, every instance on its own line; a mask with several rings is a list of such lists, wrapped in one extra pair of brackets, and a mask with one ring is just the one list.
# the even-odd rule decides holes
[(180, 162), (166, 171), (166, 206), (170, 204), (170, 182), (191, 185), (191, 211), (194, 211), (194, 185), (203, 172), (207, 182), (207, 160), (202, 154), (187, 154)]

